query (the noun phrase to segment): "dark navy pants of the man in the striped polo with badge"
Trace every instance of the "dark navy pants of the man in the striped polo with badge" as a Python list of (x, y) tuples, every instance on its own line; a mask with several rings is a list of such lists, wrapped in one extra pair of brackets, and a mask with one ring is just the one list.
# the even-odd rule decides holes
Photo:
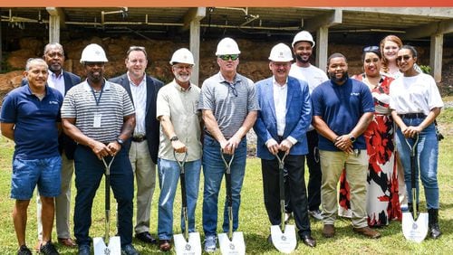
[[(107, 164), (110, 161), (111, 157), (108, 156), (106, 158)], [(92, 201), (99, 184), (101, 184), (105, 166), (92, 153), (92, 149), (87, 146), (77, 146), (74, 153), (74, 166), (75, 187), (77, 188), (74, 208), (74, 236), (80, 247), (81, 245), (90, 245), (92, 241), (89, 236), (92, 226)], [(130, 166), (128, 152), (125, 149), (120, 150), (111, 164), (111, 189), (118, 203), (117, 227), (122, 247), (132, 242), (132, 201), (134, 197), (132, 167)]]

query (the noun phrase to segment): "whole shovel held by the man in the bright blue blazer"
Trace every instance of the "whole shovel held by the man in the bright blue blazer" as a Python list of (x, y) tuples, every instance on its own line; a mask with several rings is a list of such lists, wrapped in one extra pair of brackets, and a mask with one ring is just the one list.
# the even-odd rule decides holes
[(278, 181), (280, 188), (280, 212), (281, 221), (279, 225), (271, 226), (271, 239), (275, 248), (283, 253), (291, 253), (297, 245), (297, 239), (295, 236), (294, 225), (286, 225), (284, 223), (284, 157), (288, 154), (285, 153), (283, 157), (275, 154), (278, 160)]

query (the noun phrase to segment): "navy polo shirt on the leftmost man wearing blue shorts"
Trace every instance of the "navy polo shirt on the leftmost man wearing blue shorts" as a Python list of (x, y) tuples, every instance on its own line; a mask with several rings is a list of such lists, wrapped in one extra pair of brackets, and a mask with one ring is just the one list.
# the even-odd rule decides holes
[(14, 158), (41, 159), (59, 156), (58, 128), (63, 95), (48, 86), (43, 100), (28, 85), (9, 92), (2, 105), (0, 121), (14, 123)]

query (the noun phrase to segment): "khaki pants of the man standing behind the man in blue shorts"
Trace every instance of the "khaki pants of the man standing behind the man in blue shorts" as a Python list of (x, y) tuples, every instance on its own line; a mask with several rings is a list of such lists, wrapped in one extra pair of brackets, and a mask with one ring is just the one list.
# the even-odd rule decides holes
[[(72, 174), (74, 173), (74, 161), (68, 159), (64, 151), (62, 153), (62, 186), (61, 194), (55, 197), (55, 222), (58, 238), (70, 238), (71, 219), (71, 184)], [(38, 220), (38, 239), (43, 240), (43, 223), (41, 222), (41, 199), (36, 192), (36, 214)]]

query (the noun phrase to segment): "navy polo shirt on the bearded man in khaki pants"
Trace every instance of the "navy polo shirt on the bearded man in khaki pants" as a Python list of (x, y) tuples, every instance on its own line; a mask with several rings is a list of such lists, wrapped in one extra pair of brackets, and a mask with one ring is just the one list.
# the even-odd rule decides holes
[[(324, 81), (313, 90), (313, 116), (320, 116), (338, 136), (349, 134), (365, 112), (374, 112), (374, 103), (368, 86), (360, 80), (348, 79), (342, 85)], [(363, 135), (356, 137), (354, 149), (365, 149)], [(319, 135), (318, 147), (340, 151), (333, 142)]]

